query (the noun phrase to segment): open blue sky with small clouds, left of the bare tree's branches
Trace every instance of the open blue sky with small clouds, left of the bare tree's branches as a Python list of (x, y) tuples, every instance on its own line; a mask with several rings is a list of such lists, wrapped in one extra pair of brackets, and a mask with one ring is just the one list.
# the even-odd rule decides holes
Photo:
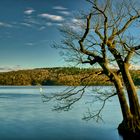
[(83, 8), (85, 0), (0, 0), (0, 71), (67, 66), (51, 44)]

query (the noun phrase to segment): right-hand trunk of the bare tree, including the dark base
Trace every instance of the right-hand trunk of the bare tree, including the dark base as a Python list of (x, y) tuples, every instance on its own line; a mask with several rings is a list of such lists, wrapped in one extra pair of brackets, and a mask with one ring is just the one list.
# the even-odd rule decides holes
[(136, 88), (130, 75), (127, 64), (124, 64), (121, 67), (121, 73), (128, 94), (131, 115), (128, 120), (124, 119), (122, 121), (118, 129), (120, 134), (125, 136), (140, 136), (140, 105), (138, 101)]

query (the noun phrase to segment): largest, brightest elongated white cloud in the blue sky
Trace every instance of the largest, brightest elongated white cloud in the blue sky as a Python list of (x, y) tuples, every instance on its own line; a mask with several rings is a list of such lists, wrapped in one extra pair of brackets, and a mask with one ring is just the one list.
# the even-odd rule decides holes
[(63, 21), (64, 20), (64, 18), (62, 16), (52, 15), (52, 14), (47, 14), (47, 13), (40, 14), (39, 16), (42, 18), (53, 20), (53, 21)]

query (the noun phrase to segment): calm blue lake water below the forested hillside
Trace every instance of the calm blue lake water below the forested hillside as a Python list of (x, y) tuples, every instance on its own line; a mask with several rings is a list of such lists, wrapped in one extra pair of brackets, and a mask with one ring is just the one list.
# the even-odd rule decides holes
[[(46, 94), (62, 91), (63, 86), (46, 86)], [(117, 127), (122, 120), (117, 97), (113, 97), (102, 112), (104, 121), (83, 121), (87, 108), (100, 103), (87, 95), (68, 112), (52, 111), (54, 102), (43, 103), (40, 87), (0, 87), (0, 140), (122, 140)], [(112, 87), (102, 87), (111, 90)]]

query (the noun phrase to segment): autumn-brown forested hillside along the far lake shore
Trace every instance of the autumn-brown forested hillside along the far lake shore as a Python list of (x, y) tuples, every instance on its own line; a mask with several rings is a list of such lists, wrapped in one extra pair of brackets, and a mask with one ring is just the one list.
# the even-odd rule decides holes
[[(140, 70), (132, 70), (136, 85), (140, 85)], [(0, 73), (0, 85), (112, 85), (100, 69), (58, 67), (38, 68)]]

